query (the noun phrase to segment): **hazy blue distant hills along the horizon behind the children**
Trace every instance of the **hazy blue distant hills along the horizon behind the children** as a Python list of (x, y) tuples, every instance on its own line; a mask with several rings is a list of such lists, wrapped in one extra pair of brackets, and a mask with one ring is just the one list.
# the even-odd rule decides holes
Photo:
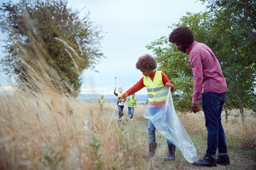
[[(114, 103), (117, 101), (117, 96), (114, 96), (114, 94), (105, 94), (103, 96), (106, 102)], [(101, 94), (80, 94), (77, 99), (81, 101), (98, 101), (100, 97)], [(139, 103), (146, 103), (147, 101), (147, 95), (138, 94), (135, 96), (135, 98)]]

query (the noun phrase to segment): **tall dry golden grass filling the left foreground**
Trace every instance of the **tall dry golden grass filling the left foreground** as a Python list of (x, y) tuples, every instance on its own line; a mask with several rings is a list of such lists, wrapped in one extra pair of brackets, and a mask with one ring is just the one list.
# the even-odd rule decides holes
[(110, 115), (94, 103), (17, 92), (1, 96), (0, 109), (0, 169), (120, 169), (142, 156), (116, 121), (106, 133)]

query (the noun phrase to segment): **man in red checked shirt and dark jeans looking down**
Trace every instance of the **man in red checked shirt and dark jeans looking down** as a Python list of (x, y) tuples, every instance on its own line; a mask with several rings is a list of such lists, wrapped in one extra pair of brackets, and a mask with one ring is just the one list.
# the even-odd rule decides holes
[(210, 47), (194, 39), (193, 32), (188, 27), (178, 27), (169, 36), (169, 42), (175, 43), (178, 50), (188, 54), (188, 62), (194, 77), (191, 108), (194, 113), (198, 112), (198, 104), (202, 98), (203, 113), (206, 118), (208, 130), (206, 156), (193, 164), (196, 166), (230, 164), (220, 117), (225, 103), (225, 92), (228, 91), (225, 78)]

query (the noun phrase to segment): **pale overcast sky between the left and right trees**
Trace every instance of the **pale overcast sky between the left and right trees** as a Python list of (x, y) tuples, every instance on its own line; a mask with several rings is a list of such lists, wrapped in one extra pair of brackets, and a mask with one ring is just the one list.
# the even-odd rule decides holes
[[(143, 77), (135, 64), (142, 55), (151, 55), (145, 46), (169, 35), (167, 26), (178, 23), (186, 11), (198, 13), (206, 9), (196, 0), (70, 0), (68, 6), (85, 7), (81, 17), (90, 11), (91, 21), (102, 28), (104, 36), (101, 52), (107, 59), (95, 67), (99, 73), (85, 70), (82, 74), (81, 91), (88, 94), (112, 94), (115, 80), (117, 88), (127, 91)], [(4, 79), (1, 74), (0, 79)], [(2, 82), (0, 85), (6, 86)], [(137, 94), (146, 94), (146, 89)]]

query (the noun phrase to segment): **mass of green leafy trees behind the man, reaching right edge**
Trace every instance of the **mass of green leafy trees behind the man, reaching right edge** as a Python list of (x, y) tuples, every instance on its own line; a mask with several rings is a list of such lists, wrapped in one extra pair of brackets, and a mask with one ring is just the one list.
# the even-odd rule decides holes
[[(228, 3), (230, 1), (225, 2)], [(240, 109), (242, 120), (244, 118), (244, 108), (251, 108), (255, 111), (256, 98), (256, 21), (255, 14), (253, 14), (256, 8), (252, 9), (255, 4), (250, 3), (248, 6), (239, 6), (240, 3), (236, 4), (236, 8), (233, 6), (232, 8), (235, 9), (229, 11), (229, 14), (227, 14), (229, 10), (227, 6), (221, 8), (221, 11), (211, 10), (204, 13), (187, 13), (186, 16), (180, 19), (179, 23), (170, 27), (172, 29), (178, 26), (188, 26), (193, 30), (198, 42), (206, 43), (213, 50), (228, 84), (225, 108)], [(242, 11), (250, 11), (250, 15)], [(230, 21), (230, 16), (235, 17), (234, 21), (232, 19)], [(247, 19), (243, 18), (245, 16), (247, 16)], [(176, 108), (187, 110), (188, 107), (184, 105), (190, 106), (191, 100), (185, 101), (188, 100), (185, 96), (191, 95), (193, 91), (191, 89), (193, 75), (186, 58), (188, 55), (184, 56), (181, 52), (176, 53), (176, 47), (169, 44), (168, 36), (151, 42), (146, 47), (149, 50), (153, 50), (156, 60), (159, 62), (159, 68), (164, 72), (169, 72), (168, 76), (174, 82), (176, 91), (182, 91), (179, 94), (183, 97), (179, 96), (176, 98), (177, 101), (174, 101)], [(184, 77), (188, 79), (184, 79)], [(177, 80), (180, 80), (181, 83), (176, 84)], [(176, 91), (174, 96), (178, 95)]]

